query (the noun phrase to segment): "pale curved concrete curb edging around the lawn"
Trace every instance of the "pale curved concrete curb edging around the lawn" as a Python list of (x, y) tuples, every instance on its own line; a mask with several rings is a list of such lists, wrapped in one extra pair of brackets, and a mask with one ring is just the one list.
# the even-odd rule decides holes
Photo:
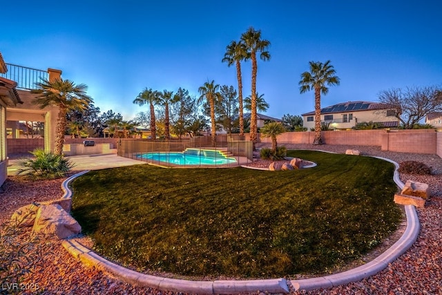
[[(403, 188), (404, 184), (401, 182), (398, 176), (398, 164), (390, 159), (379, 158), (386, 160), (395, 165), (394, 182)], [(70, 191), (68, 184), (73, 179), (77, 178), (88, 171), (82, 171), (66, 179), (61, 188), (64, 191), (62, 198), (71, 198), (72, 191)], [(98, 269), (110, 272), (117, 278), (124, 280), (134, 285), (153, 287), (156, 289), (166, 289), (174, 292), (186, 292), (186, 293), (198, 293), (198, 294), (233, 294), (242, 292), (270, 292), (270, 293), (289, 293), (289, 284), (291, 284), (295, 291), (300, 289), (311, 290), (320, 288), (329, 288), (337, 285), (344, 285), (347, 283), (356, 282), (367, 278), (381, 270), (385, 269), (389, 263), (396, 260), (398, 256), (401, 256), (407, 249), (413, 245), (416, 241), (420, 223), (416, 213), (416, 209), (413, 205), (405, 206), (405, 215), (407, 218), (407, 227), (398, 241), (388, 248), (380, 256), (374, 260), (350, 269), (346, 272), (340, 272), (338, 274), (332, 274), (329, 276), (321, 276), (318, 278), (307, 278), (301, 280), (287, 281), (285, 278), (267, 279), (267, 280), (212, 280), (212, 281), (197, 281), (197, 280), (181, 280), (173, 278), (162, 278), (159, 276), (151, 276), (148, 274), (142, 274), (135, 272), (131, 269), (126, 269), (115, 263), (102, 258), (95, 252), (84, 247), (75, 238), (66, 239), (62, 242), (63, 247), (72, 254), (75, 258), (81, 260), (82, 263), (90, 266), (97, 267)]]

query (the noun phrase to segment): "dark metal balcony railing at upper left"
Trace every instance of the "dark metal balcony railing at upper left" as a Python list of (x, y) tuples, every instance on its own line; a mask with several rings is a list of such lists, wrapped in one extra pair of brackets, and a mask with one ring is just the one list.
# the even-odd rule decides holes
[(0, 77), (17, 82), (17, 88), (37, 89), (37, 82), (41, 78), (48, 79), (49, 74), (46, 70), (37, 70), (36, 68), (27, 68), (26, 66), (17, 66), (15, 64), (6, 64), (8, 71), (5, 74), (0, 73)]

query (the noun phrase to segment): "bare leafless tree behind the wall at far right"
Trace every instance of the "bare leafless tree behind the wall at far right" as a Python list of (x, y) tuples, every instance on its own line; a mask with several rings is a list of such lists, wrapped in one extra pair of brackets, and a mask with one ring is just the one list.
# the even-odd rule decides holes
[(436, 86), (381, 91), (378, 100), (394, 109), (404, 129), (413, 129), (428, 113), (442, 111), (441, 89)]

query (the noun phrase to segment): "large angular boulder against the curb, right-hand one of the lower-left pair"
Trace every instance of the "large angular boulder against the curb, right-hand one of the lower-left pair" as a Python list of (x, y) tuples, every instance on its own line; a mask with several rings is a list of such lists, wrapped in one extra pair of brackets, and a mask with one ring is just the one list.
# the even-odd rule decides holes
[(41, 205), (35, 216), (33, 234), (55, 235), (67, 238), (81, 232), (81, 227), (59, 204)]

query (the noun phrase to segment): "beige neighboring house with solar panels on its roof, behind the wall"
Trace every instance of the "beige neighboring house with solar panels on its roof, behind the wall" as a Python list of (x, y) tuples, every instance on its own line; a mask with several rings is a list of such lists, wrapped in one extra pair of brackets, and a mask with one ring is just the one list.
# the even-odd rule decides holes
[[(303, 126), (307, 130), (314, 128), (315, 112), (302, 114)], [(399, 120), (395, 110), (378, 102), (343, 102), (327, 106), (320, 110), (320, 120), (329, 124), (329, 129), (353, 129), (363, 122), (376, 123), (381, 128), (396, 128)]]

